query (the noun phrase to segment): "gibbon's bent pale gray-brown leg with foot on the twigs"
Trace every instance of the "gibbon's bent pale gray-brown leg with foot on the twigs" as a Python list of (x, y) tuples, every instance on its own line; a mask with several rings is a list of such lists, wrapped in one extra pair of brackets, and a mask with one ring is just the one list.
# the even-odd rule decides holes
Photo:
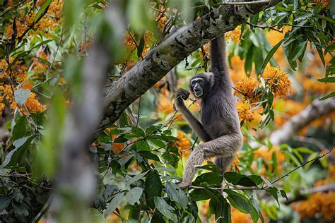
[[(204, 162), (204, 159), (209, 157), (220, 157), (221, 160), (226, 158), (228, 158), (228, 160), (233, 159), (241, 144), (242, 134), (230, 133), (196, 146), (191, 152), (191, 155), (184, 167), (184, 178), (178, 185), (180, 187), (190, 186), (192, 179), (196, 174), (195, 167), (201, 165)], [(224, 167), (221, 168), (226, 169), (227, 167), (228, 165), (224, 164)]]

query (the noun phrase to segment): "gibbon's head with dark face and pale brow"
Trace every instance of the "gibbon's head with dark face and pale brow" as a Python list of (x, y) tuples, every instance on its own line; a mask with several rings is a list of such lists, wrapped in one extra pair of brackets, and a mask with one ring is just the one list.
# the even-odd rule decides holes
[(213, 87), (213, 73), (198, 73), (189, 80), (189, 89), (197, 98), (208, 94)]

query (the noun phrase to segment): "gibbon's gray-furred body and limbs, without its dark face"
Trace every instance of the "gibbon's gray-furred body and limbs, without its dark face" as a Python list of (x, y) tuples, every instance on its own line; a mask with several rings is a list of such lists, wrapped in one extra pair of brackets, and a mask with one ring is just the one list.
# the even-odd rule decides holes
[[(191, 78), (203, 78), (201, 96), (201, 123), (185, 107), (186, 90), (177, 93), (177, 107), (189, 123), (189, 126), (205, 143), (194, 148), (184, 167), (183, 181), (180, 187), (189, 186), (196, 174), (196, 165), (204, 159), (216, 157), (215, 163), (224, 173), (235, 159), (237, 150), (242, 146), (240, 121), (235, 107), (232, 86), (225, 61), (225, 40), (217, 37), (211, 41), (211, 72), (199, 73)], [(191, 85), (190, 85), (191, 87)], [(194, 92), (194, 89), (192, 89)], [(186, 98), (186, 99), (185, 99)]]

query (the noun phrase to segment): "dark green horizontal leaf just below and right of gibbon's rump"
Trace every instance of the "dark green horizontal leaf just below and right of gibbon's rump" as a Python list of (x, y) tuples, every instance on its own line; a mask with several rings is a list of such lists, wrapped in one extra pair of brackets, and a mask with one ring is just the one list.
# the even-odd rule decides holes
[(244, 174), (237, 174), (235, 172), (226, 172), (224, 175), (225, 180), (233, 185), (240, 185), (240, 186), (257, 186), (263, 183), (261, 176), (257, 175), (244, 175)]

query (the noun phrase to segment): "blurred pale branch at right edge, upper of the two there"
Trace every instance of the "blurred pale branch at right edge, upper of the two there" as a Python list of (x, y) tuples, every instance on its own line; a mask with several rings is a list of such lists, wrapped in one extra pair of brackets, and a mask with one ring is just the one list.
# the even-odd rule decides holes
[(299, 114), (296, 114), (290, 120), (270, 135), (270, 141), (273, 144), (286, 143), (301, 128), (307, 126), (311, 121), (335, 111), (335, 98), (331, 97), (324, 101), (314, 100)]

